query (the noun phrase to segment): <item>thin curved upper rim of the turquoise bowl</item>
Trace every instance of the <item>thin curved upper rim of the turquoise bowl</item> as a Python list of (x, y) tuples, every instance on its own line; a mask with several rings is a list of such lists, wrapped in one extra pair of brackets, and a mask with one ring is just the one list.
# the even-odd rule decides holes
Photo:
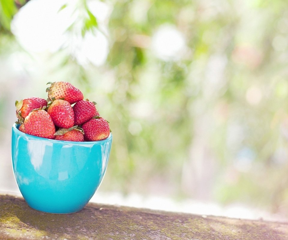
[(49, 138), (44, 138), (44, 137), (38, 137), (38, 136), (34, 136), (31, 134), (26, 134), (21, 132), (18, 127), (20, 126), (20, 124), (16, 124), (14, 123), (12, 126), (12, 129), (14, 131), (16, 131), (16, 133), (19, 136), (28, 138), (29, 140), (41, 140), (41, 141), (45, 141), (45, 142), (50, 142), (50, 143), (55, 143), (55, 144), (75, 144), (75, 145), (91, 145), (91, 144), (102, 144), (105, 142), (109, 142), (110, 140), (112, 140), (112, 133), (109, 134), (109, 136), (103, 140), (98, 140), (98, 141), (84, 141), (84, 142), (75, 142), (75, 141), (62, 141), (62, 140), (55, 140), (55, 139), (49, 139)]

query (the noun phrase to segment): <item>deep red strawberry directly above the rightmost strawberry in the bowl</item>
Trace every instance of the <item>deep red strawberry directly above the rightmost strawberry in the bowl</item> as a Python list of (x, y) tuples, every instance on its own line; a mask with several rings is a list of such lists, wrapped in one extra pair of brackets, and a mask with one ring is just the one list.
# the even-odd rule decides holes
[(75, 125), (81, 125), (82, 123), (92, 119), (94, 116), (99, 116), (95, 104), (88, 100), (76, 102), (73, 106), (73, 110)]

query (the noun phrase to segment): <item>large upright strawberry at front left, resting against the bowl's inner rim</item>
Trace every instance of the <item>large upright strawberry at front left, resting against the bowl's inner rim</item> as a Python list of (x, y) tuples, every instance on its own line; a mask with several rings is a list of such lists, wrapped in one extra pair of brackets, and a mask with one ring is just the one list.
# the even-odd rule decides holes
[(54, 139), (55, 126), (52, 118), (45, 110), (34, 110), (24, 120), (25, 131), (28, 134)]

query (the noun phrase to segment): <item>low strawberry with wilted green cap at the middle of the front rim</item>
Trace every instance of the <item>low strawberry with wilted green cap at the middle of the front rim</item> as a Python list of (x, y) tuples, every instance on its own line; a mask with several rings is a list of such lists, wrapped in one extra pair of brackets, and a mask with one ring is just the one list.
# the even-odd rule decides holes
[(83, 142), (84, 141), (84, 132), (82, 128), (60, 128), (55, 132), (55, 140), (62, 141), (73, 141), (73, 142)]

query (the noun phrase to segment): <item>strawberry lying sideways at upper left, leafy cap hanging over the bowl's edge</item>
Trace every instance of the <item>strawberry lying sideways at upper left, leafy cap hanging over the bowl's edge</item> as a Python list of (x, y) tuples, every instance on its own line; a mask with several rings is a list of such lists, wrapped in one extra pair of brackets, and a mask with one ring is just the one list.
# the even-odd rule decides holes
[(44, 98), (25, 98), (19, 102), (16, 101), (15, 106), (16, 116), (20, 122), (23, 122), (31, 110), (47, 106), (47, 102)]

